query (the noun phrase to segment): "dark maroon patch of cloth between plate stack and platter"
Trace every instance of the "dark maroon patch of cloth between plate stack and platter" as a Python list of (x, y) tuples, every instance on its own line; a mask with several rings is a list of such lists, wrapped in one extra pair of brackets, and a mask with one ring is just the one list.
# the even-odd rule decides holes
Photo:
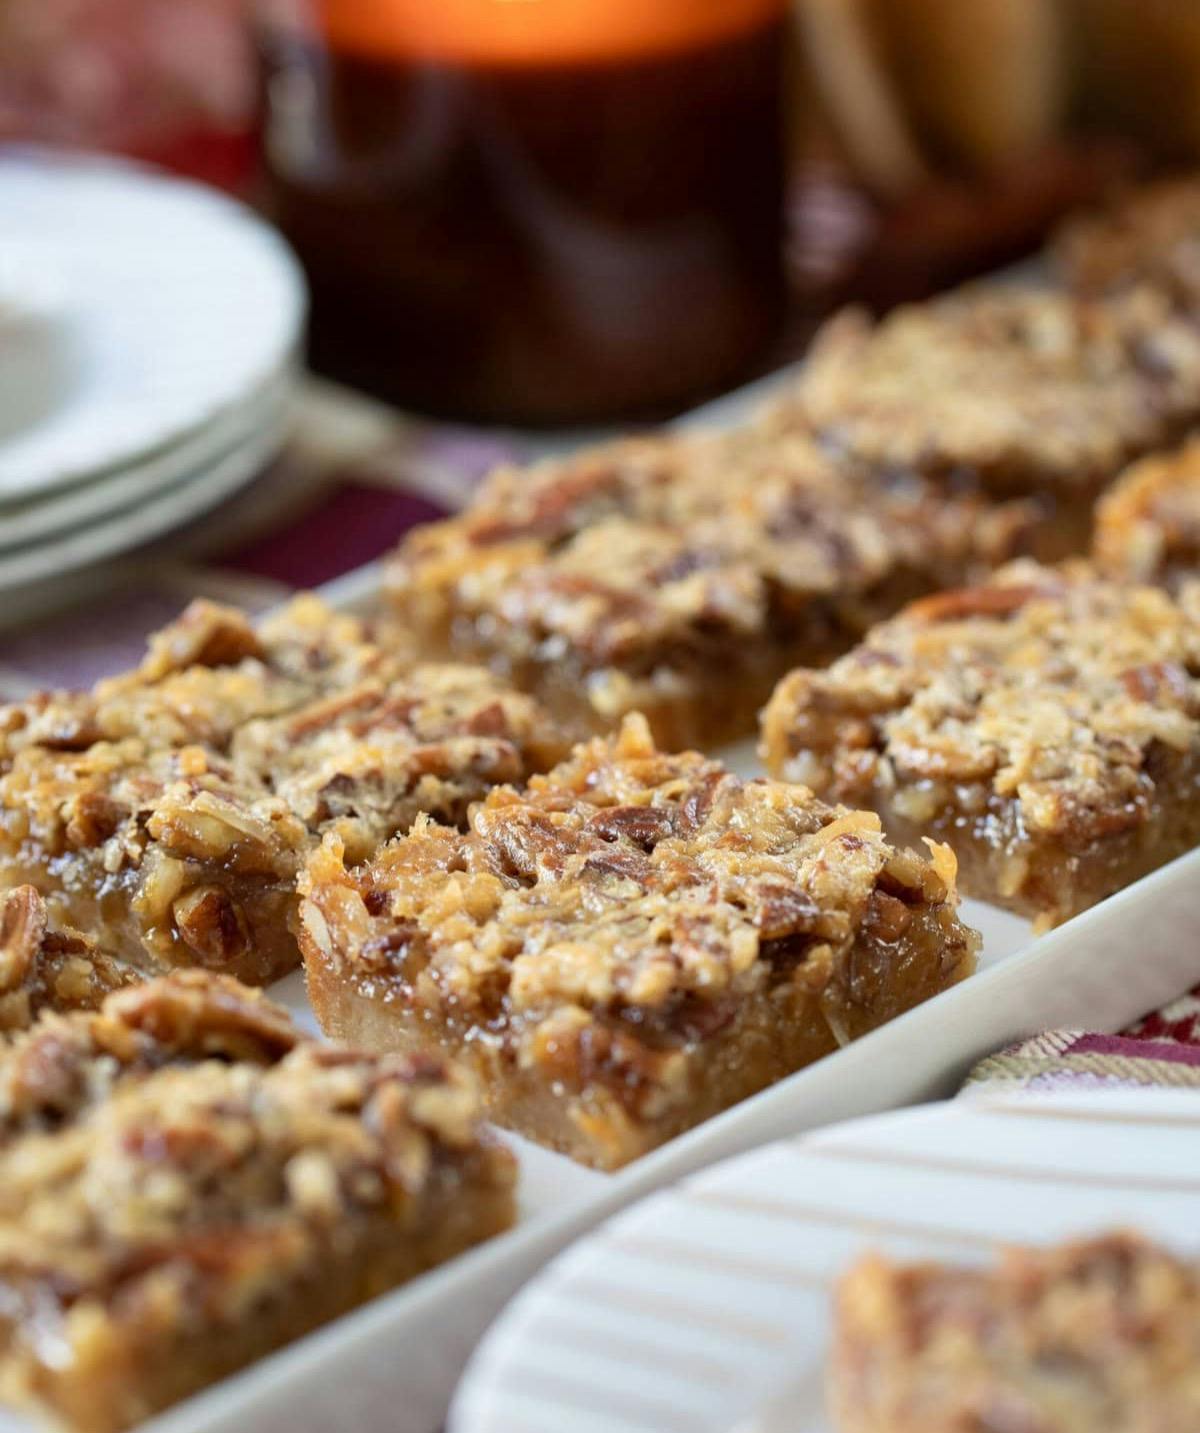
[(444, 516), (444, 507), (416, 493), (346, 483), (291, 526), (257, 537), (216, 565), (290, 588), (315, 588), (381, 557), (417, 523)]

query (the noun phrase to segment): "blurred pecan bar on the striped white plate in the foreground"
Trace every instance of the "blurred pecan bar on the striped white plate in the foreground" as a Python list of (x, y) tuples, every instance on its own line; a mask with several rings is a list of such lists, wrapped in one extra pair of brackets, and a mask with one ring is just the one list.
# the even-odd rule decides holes
[(1121, 1234), (989, 1270), (872, 1257), (830, 1373), (840, 1433), (1190, 1433), (1200, 1271)]

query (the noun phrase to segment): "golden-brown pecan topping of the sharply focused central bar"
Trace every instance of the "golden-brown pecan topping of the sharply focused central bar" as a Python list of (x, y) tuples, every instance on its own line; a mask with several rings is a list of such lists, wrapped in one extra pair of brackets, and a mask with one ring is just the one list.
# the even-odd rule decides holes
[(819, 986), (860, 934), (897, 941), (918, 906), (949, 923), (942, 860), (893, 851), (876, 817), (803, 787), (661, 752), (629, 718), (525, 791), (493, 791), (465, 833), (423, 823), (351, 870), (327, 840), (301, 878), (301, 939), (347, 983), (391, 974), (406, 1007), (639, 1089), (655, 1050), (725, 1029), (814, 941)]

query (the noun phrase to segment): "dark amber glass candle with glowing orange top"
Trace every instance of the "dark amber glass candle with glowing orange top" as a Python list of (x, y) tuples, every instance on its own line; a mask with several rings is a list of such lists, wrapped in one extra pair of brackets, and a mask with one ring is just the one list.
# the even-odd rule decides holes
[(320, 367), (475, 418), (682, 407), (781, 308), (783, 0), (277, 0)]

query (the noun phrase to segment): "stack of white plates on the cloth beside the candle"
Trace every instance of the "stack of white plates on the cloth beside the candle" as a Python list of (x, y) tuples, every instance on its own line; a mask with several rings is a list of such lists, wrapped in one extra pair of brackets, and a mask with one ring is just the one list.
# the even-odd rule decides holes
[(291, 252), (241, 205), (0, 149), (0, 593), (141, 547), (259, 473), (304, 317)]

